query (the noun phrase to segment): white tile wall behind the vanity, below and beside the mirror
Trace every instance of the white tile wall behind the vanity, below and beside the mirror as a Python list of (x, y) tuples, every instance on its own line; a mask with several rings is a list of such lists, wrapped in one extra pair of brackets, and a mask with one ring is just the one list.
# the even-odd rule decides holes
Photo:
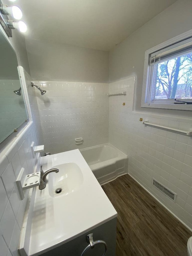
[[(25, 213), (26, 198), (20, 200), (16, 178), (21, 167), (27, 173), (33, 172), (35, 159), (30, 149), (32, 141), (42, 143), (42, 132), (38, 114), (35, 91), (30, 86), (30, 77), (25, 72), (29, 100), (32, 108), (33, 124), (14, 139), (8, 148), (0, 153), (0, 255), (18, 256), (18, 246), (22, 221)], [(41, 144), (40, 144), (41, 145)]]

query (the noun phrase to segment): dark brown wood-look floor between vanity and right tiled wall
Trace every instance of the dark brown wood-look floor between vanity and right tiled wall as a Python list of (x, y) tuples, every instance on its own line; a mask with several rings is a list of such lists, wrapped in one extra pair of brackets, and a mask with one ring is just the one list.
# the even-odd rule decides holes
[(187, 256), (192, 233), (131, 176), (102, 188), (118, 212), (116, 256)]

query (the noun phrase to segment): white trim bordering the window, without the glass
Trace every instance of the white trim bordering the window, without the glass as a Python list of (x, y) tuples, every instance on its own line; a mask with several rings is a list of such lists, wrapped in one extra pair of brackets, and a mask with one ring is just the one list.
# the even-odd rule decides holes
[[(165, 102), (162, 102), (161, 104), (148, 103), (149, 101), (151, 101), (151, 99), (150, 99), (150, 97), (152, 95), (151, 90), (154, 89), (154, 88), (152, 88), (152, 86), (150, 86), (150, 84), (151, 84), (150, 80), (151, 80), (152, 76), (149, 74), (149, 72), (150, 72), (149, 55), (154, 52), (157, 52), (158, 50), (166, 48), (172, 44), (176, 44), (177, 42), (185, 40), (190, 37), (192, 37), (192, 29), (145, 51), (141, 107), (177, 109), (177, 110), (192, 110), (192, 105), (186, 105), (186, 104), (181, 104), (181, 105), (180, 104), (167, 104)], [(170, 101), (174, 101), (174, 100), (170, 100)]]

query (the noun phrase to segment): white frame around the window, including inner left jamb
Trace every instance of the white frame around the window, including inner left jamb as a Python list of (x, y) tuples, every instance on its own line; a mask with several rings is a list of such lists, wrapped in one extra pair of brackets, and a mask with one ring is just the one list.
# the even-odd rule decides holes
[[(167, 48), (180, 41), (184, 41), (188, 38), (191, 38), (191, 41), (192, 41), (192, 29), (145, 51), (141, 107), (176, 109), (176, 110), (192, 110), (192, 104), (191, 105), (190, 104), (173, 104), (174, 99), (167, 99), (165, 101), (161, 100), (161, 103), (160, 103), (159, 102), (160, 100), (153, 99), (155, 95), (155, 83), (154, 83), (155, 72), (153, 71), (154, 71), (154, 68), (157, 66), (155, 65), (150, 66), (150, 56), (152, 53), (155, 53), (159, 50)], [(186, 101), (192, 101), (192, 100), (188, 99)]]

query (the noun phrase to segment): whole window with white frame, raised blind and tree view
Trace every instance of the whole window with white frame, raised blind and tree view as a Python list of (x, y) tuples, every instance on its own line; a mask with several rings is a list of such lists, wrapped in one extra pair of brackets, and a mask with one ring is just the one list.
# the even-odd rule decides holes
[(191, 102), (192, 38), (176, 37), (146, 51), (141, 106), (192, 110)]

